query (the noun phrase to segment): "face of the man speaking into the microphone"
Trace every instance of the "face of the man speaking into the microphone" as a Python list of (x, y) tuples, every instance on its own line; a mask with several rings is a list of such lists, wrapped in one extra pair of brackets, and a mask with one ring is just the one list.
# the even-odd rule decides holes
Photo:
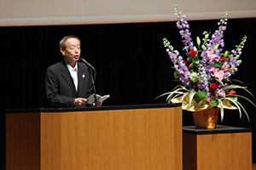
[(81, 54), (80, 41), (74, 37), (68, 38), (66, 41), (66, 49), (61, 48), (61, 53), (64, 55), (69, 65), (75, 64)]

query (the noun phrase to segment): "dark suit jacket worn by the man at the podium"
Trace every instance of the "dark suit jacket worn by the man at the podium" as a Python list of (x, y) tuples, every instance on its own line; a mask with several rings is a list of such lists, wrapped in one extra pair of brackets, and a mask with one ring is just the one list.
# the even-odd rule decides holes
[(65, 60), (49, 66), (45, 77), (46, 99), (53, 107), (73, 107), (75, 98), (87, 99), (93, 94), (93, 85), (87, 65), (78, 62), (79, 86), (76, 91)]

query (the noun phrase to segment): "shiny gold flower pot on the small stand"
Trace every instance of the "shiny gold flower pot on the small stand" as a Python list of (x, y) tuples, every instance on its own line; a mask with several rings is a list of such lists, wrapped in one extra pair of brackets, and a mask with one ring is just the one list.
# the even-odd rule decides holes
[(195, 127), (216, 128), (218, 122), (218, 107), (209, 106), (206, 110), (193, 111)]

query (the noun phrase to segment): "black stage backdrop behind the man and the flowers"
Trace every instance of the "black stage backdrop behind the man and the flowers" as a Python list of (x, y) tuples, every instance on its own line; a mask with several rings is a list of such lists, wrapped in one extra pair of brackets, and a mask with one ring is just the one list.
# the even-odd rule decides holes
[[(192, 38), (203, 31), (215, 31), (218, 20), (189, 21)], [(256, 19), (228, 20), (224, 32), (225, 49), (234, 49), (247, 35), (241, 59), (243, 63), (234, 79), (244, 82), (256, 95)], [(181, 37), (176, 22), (109, 24), (83, 26), (17, 26), (0, 27), (1, 47), (1, 163), (5, 165), (5, 110), (49, 107), (44, 98), (44, 74), (49, 65), (63, 59), (58, 43), (66, 35), (76, 35), (82, 41), (81, 57), (97, 71), (97, 94), (110, 94), (104, 105), (140, 105), (163, 103), (154, 99), (177, 86), (173, 82), (171, 60), (163, 47), (167, 39), (182, 53)], [(246, 93), (241, 92), (247, 97)], [(251, 98), (252, 99), (252, 98)], [(255, 100), (253, 99), (253, 102)], [(225, 111), (219, 124), (253, 128), (253, 162), (256, 161), (255, 108), (241, 99), (251, 118), (239, 119), (238, 111)], [(183, 125), (193, 124), (189, 112), (183, 112)]]

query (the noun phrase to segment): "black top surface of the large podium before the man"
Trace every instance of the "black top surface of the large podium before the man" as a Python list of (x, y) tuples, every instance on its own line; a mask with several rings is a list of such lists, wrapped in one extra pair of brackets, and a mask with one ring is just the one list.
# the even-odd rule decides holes
[(131, 109), (152, 109), (178, 107), (181, 103), (176, 104), (144, 104), (144, 105), (108, 105), (101, 107), (69, 107), (69, 108), (32, 108), (32, 109), (8, 109), (5, 113), (30, 113), (30, 112), (70, 112), (70, 111), (110, 111), (110, 110), (131, 110)]

